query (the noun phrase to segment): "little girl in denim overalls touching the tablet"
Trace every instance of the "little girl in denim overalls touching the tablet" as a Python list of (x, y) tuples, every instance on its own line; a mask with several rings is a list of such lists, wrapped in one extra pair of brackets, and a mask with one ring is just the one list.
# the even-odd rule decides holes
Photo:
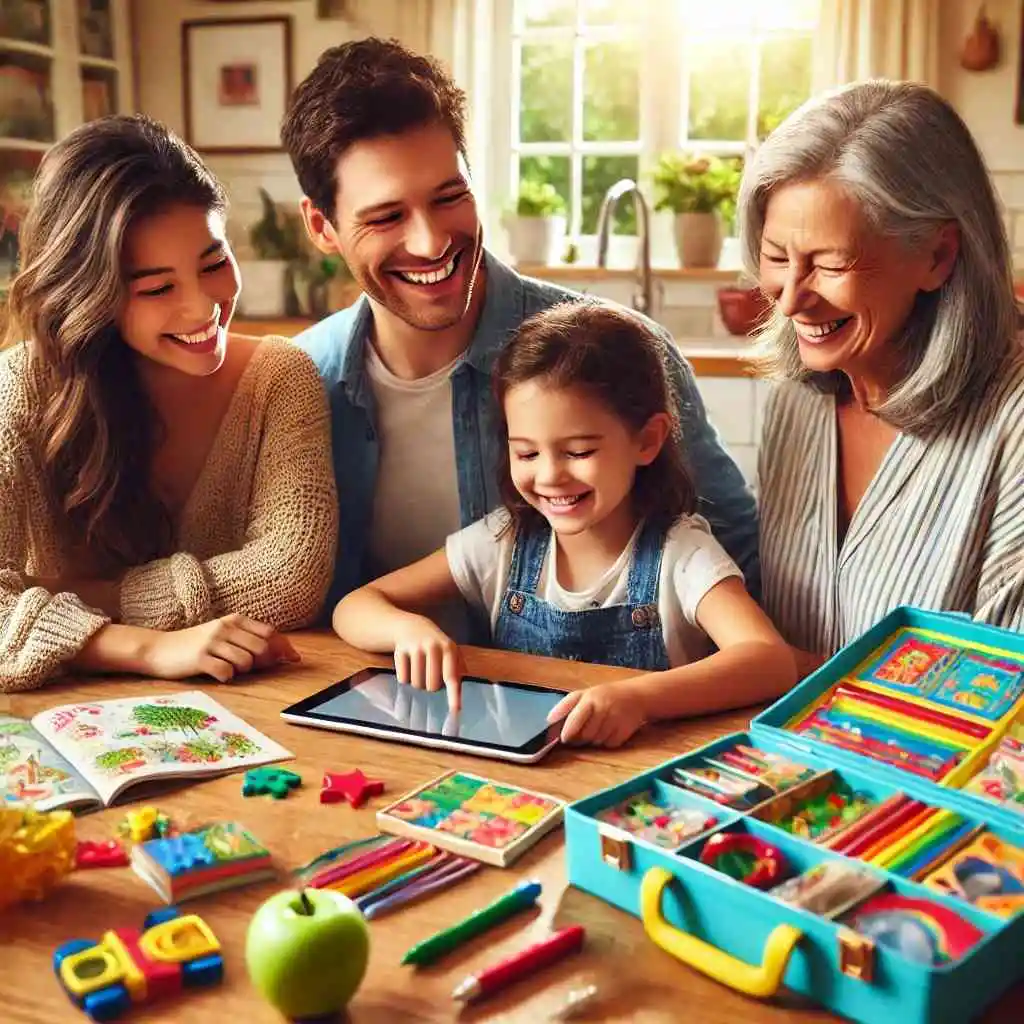
[(792, 686), (787, 646), (692, 514), (664, 346), (606, 305), (526, 321), (494, 374), (505, 508), (344, 598), (338, 634), (393, 650), (399, 679), (447, 685), (454, 703), (459, 650), (423, 612), (459, 594), (489, 617), (499, 647), (638, 670), (553, 710), (566, 742), (614, 746), (644, 722)]

